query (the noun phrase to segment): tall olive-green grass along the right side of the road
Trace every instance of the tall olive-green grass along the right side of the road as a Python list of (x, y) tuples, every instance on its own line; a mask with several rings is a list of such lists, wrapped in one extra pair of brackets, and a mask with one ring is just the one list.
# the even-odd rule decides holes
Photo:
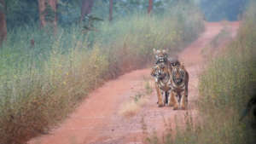
[[(185, 118), (185, 129), (177, 128), (163, 139), (148, 143), (165, 144), (253, 144), (256, 127), (253, 112), (239, 120), (256, 86), (256, 3), (243, 14), (236, 39), (223, 54), (210, 60), (200, 78), (199, 119)], [(193, 123), (193, 120), (196, 121)], [(164, 141), (160, 141), (164, 140)]]

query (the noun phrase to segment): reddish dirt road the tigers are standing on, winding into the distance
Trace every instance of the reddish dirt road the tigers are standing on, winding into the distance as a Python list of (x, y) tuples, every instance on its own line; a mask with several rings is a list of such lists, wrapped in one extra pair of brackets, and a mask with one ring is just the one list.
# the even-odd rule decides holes
[[(229, 23), (232, 35), (236, 35), (238, 23)], [(120, 108), (131, 96), (145, 91), (145, 83), (153, 84), (149, 69), (127, 73), (109, 81), (102, 88), (89, 95), (78, 109), (61, 126), (29, 141), (30, 144), (129, 144), (143, 143), (143, 133), (162, 131), (165, 123), (174, 129), (175, 120), (183, 124), (183, 115), (196, 115), (195, 103), (198, 98), (198, 75), (204, 65), (201, 49), (210, 43), (223, 28), (221, 23), (206, 23), (206, 32), (184, 49), (179, 58), (189, 72), (189, 110), (173, 111), (171, 107), (156, 105), (155, 91), (147, 95), (148, 102), (133, 117), (119, 114)], [(154, 87), (153, 87), (154, 88)], [(154, 89), (153, 89), (154, 90)], [(147, 125), (143, 127), (143, 125)], [(142, 128), (143, 127), (143, 128)]]

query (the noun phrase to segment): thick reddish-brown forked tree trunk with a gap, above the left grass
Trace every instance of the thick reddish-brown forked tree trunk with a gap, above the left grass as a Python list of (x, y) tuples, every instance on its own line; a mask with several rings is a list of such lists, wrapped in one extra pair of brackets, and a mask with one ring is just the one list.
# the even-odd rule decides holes
[(58, 0), (38, 0), (40, 26), (41, 27), (45, 27), (47, 25), (47, 23), (49, 22), (49, 21), (45, 20), (45, 14), (46, 14), (45, 9), (46, 9), (47, 4), (49, 4), (50, 8), (55, 13), (54, 20), (50, 21), (53, 24), (53, 26), (54, 26), (54, 33), (55, 34), (57, 32), (57, 15), (56, 15), (57, 3), (58, 3)]

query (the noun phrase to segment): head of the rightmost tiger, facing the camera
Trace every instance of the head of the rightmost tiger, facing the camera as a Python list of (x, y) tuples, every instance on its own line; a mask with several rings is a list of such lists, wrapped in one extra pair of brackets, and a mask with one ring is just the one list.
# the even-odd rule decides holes
[(174, 84), (181, 85), (184, 83), (186, 71), (183, 65), (172, 66), (172, 81)]

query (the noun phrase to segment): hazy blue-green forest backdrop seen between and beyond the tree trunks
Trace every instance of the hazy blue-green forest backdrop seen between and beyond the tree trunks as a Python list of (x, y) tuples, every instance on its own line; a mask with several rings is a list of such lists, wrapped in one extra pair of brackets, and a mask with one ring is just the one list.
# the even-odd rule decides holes
[[(177, 8), (177, 3), (188, 6), (191, 3), (200, 5), (206, 19), (237, 20), (238, 15), (246, 8), (249, 0), (158, 0), (153, 3), (153, 13), (163, 14), (168, 9)], [(80, 17), (81, 0), (59, 0), (57, 3), (58, 23), (60, 26), (77, 24)], [(8, 0), (6, 1), (7, 23), (9, 28), (14, 26), (32, 25), (39, 21), (38, 1)], [(1, 5), (0, 5), (1, 9)], [(113, 1), (113, 20), (134, 13), (146, 13), (148, 0), (119, 0)], [(191, 8), (193, 9), (193, 8)], [(108, 20), (109, 1), (95, 1), (92, 14), (103, 20)]]

